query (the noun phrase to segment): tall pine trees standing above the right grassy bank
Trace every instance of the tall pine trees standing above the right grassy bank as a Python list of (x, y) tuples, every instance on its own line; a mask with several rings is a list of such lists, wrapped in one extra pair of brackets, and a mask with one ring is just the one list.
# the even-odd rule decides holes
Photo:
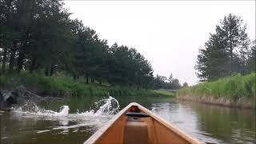
[(242, 18), (229, 14), (225, 16), (215, 33), (210, 34), (205, 47), (199, 49), (195, 69), (201, 81), (214, 81), (234, 73), (255, 72), (255, 40), (246, 34)]

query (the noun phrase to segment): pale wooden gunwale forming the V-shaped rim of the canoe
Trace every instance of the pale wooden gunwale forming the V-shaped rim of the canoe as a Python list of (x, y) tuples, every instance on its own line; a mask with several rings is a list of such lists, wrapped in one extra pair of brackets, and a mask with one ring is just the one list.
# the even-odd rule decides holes
[(145, 107), (139, 105), (136, 102), (132, 102), (130, 103), (128, 106), (126, 106), (124, 109), (122, 109), (118, 114), (114, 115), (113, 118), (111, 118), (105, 126), (102, 126), (102, 128), (100, 128), (99, 130), (97, 130), (90, 138), (88, 138), (86, 140), (86, 142), (84, 142), (84, 144), (92, 144), (92, 143), (96, 143), (98, 141), (99, 138), (102, 137), (103, 134), (106, 133), (106, 131), (114, 124), (114, 122), (118, 121), (118, 118), (121, 118), (121, 116), (123, 114), (126, 113), (127, 110), (129, 110), (129, 108), (131, 106), (138, 106), (138, 108), (140, 110), (142, 110), (143, 112), (145, 112), (146, 114), (149, 114), (151, 118), (154, 118), (156, 121), (160, 122), (163, 126), (166, 126), (167, 128), (169, 128), (170, 130), (174, 131), (174, 133), (178, 134), (180, 137), (186, 139), (187, 142), (190, 143), (196, 143), (196, 144), (200, 144), (200, 143), (204, 143), (204, 142), (200, 142), (195, 138), (190, 137), (189, 135), (187, 135), (186, 133), (184, 133), (182, 130), (179, 130), (178, 128), (176, 128), (175, 126), (172, 126), (169, 122), (166, 122), (164, 119), (158, 117), (156, 114), (154, 114), (153, 112), (151, 112), (150, 110), (147, 110)]

